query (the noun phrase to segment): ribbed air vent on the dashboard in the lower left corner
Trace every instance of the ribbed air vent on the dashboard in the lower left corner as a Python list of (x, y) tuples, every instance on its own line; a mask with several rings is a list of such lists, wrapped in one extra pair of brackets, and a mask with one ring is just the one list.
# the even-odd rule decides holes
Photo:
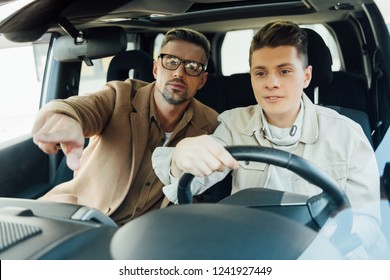
[(41, 232), (37, 226), (0, 221), (0, 252)]

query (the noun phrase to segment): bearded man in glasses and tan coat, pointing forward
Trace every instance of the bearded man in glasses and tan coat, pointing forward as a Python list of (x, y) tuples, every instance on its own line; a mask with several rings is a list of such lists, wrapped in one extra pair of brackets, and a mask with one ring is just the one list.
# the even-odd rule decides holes
[[(194, 30), (167, 32), (153, 83), (114, 81), (88, 96), (55, 100), (38, 114), (34, 142), (67, 156), (75, 178), (41, 199), (97, 208), (119, 225), (157, 209), (164, 199), (151, 155), (185, 137), (212, 133), (217, 113), (193, 99), (207, 80), (210, 44)], [(83, 151), (84, 138), (92, 137)]]

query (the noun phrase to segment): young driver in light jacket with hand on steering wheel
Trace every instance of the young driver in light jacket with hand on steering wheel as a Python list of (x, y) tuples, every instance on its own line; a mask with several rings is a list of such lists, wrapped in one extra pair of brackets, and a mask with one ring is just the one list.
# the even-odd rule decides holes
[(167, 185), (164, 193), (177, 201), (176, 178), (183, 172), (198, 176), (191, 189), (199, 194), (233, 169), (233, 193), (259, 186), (309, 196), (319, 194), (318, 187), (287, 169), (236, 161), (224, 146), (281, 149), (311, 161), (338, 182), (354, 210), (353, 232), (363, 242), (359, 251), (370, 251), (379, 238), (380, 224), (375, 156), (358, 124), (314, 105), (304, 94), (312, 75), (307, 34), (288, 21), (266, 24), (253, 37), (249, 64), (258, 105), (222, 113), (221, 124), (212, 136), (186, 138), (173, 150), (156, 149), (153, 166)]

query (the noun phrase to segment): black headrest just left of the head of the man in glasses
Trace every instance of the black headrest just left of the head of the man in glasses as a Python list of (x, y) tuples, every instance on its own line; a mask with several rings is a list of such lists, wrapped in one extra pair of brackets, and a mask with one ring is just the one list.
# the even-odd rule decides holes
[(134, 70), (134, 79), (154, 81), (152, 57), (142, 50), (130, 50), (117, 54), (111, 60), (107, 71), (107, 82), (128, 79), (130, 70)]

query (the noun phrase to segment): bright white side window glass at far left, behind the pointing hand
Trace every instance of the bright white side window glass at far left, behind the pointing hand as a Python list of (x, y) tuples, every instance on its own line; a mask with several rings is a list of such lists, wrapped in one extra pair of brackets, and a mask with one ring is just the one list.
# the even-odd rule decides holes
[(39, 109), (49, 35), (12, 43), (0, 35), (0, 144), (30, 133)]

